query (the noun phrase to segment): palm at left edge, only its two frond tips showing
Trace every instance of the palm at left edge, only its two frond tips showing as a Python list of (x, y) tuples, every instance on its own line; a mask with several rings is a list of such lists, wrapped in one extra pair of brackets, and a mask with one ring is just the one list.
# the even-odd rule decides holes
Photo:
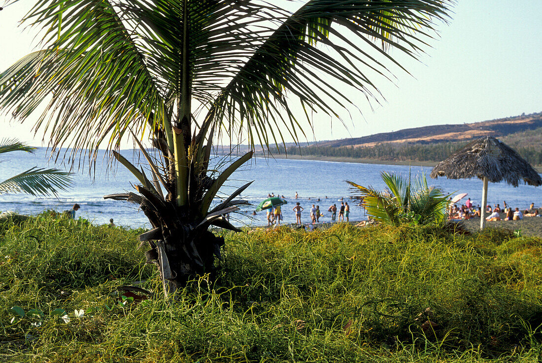
[[(1, 139), (0, 154), (11, 151), (26, 151), (33, 153), (36, 148), (25, 145), (16, 139)], [(51, 168), (30, 168), (21, 174), (0, 182), (0, 194), (28, 193), (30, 195), (56, 195), (72, 184), (71, 173)]]

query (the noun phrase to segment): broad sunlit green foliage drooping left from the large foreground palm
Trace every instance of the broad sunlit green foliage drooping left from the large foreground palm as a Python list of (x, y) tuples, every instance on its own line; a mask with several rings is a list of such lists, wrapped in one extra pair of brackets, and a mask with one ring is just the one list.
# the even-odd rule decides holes
[(152, 63), (117, 11), (106, 0), (38, 1), (25, 21), (47, 29), (47, 48), (0, 74), (2, 111), (24, 120), (44, 105), (35, 128), (50, 132), (53, 148), (74, 151), (97, 150), (103, 141), (118, 148), (128, 125), (144, 129), (151, 114), (162, 121)]

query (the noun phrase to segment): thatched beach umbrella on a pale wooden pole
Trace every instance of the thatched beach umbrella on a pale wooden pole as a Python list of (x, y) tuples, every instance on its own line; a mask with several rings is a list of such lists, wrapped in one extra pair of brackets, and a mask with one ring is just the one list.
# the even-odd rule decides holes
[(431, 177), (447, 176), (448, 179), (483, 180), (482, 213), (480, 228), (486, 220), (487, 182), (498, 183), (506, 180), (514, 187), (521, 179), (535, 187), (542, 184), (542, 178), (517, 151), (498, 139), (486, 136), (470, 142), (463, 149), (456, 151), (446, 160), (441, 161), (431, 171)]

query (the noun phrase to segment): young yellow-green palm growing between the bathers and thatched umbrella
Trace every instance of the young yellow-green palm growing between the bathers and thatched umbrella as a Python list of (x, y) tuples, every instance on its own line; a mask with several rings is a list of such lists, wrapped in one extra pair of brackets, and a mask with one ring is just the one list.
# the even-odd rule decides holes
[(382, 180), (387, 190), (381, 192), (373, 187), (363, 187), (351, 181), (354, 200), (364, 207), (372, 218), (385, 224), (403, 223), (439, 224), (445, 220), (449, 195), (442, 189), (427, 185), (425, 175), (416, 176), (411, 183), (398, 174), (383, 171)]

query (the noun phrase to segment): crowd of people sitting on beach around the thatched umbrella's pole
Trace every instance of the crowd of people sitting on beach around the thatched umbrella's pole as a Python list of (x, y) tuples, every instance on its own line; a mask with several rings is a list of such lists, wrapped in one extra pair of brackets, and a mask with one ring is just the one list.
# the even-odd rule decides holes
[[(542, 207), (540, 207), (542, 208)], [(448, 211), (447, 211), (449, 220), (464, 220), (470, 218), (481, 218), (482, 207), (480, 205), (474, 206), (470, 198), (463, 204), (461, 207), (457, 206), (454, 202), (449, 199)], [(486, 220), (487, 221), (499, 221), (499, 220), (521, 220), (526, 217), (539, 217), (538, 208), (534, 208), (534, 203), (521, 211), (518, 207), (512, 208), (506, 204), (506, 201), (503, 202), (503, 207), (501, 208), (500, 203), (486, 206)]]

